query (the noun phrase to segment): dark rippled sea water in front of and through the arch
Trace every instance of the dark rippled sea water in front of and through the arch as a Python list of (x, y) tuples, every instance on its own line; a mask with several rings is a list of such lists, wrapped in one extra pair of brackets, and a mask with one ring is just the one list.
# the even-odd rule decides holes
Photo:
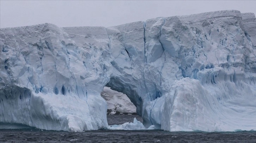
[[(108, 124), (133, 122), (138, 115), (107, 115)], [(0, 129), (0, 143), (256, 143), (256, 131), (168, 132), (163, 130), (47, 131)]]

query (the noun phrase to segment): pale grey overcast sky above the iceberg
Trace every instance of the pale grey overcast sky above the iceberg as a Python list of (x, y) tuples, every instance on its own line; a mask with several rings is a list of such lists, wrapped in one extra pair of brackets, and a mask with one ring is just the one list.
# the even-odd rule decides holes
[(0, 1), (0, 27), (53, 23), (59, 27), (115, 26), (157, 17), (220, 10), (256, 13), (256, 1)]

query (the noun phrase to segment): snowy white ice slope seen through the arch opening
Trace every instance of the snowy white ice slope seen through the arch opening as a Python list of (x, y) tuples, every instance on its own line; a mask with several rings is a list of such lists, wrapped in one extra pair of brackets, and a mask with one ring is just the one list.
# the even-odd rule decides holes
[(135, 114), (136, 107), (127, 97), (127, 95), (111, 90), (110, 87), (104, 87), (100, 95), (108, 104), (108, 114), (125, 113)]

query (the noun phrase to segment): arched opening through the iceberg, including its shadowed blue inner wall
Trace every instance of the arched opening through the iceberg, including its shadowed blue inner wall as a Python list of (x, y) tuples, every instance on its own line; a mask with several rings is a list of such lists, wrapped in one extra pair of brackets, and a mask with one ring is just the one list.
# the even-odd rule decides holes
[(138, 109), (138, 107), (140, 108), (141, 102), (140, 100), (138, 100), (139, 102), (136, 100), (138, 94), (135, 90), (132, 90), (133, 88), (132, 85), (127, 84), (117, 77), (111, 77), (110, 82), (104, 87), (100, 95), (107, 103), (106, 114), (109, 125), (132, 123), (134, 122), (134, 118), (136, 118), (136, 120), (141, 122), (138, 125), (144, 128), (142, 125), (143, 119), (140, 114), (141, 110)]

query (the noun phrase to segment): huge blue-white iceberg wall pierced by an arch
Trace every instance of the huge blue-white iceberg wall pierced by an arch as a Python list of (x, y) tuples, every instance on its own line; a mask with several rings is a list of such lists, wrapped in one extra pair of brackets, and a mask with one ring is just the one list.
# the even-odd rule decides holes
[(0, 122), (108, 126), (104, 86), (168, 131), (256, 129), (256, 21), (218, 11), (113, 27), (1, 28)]

